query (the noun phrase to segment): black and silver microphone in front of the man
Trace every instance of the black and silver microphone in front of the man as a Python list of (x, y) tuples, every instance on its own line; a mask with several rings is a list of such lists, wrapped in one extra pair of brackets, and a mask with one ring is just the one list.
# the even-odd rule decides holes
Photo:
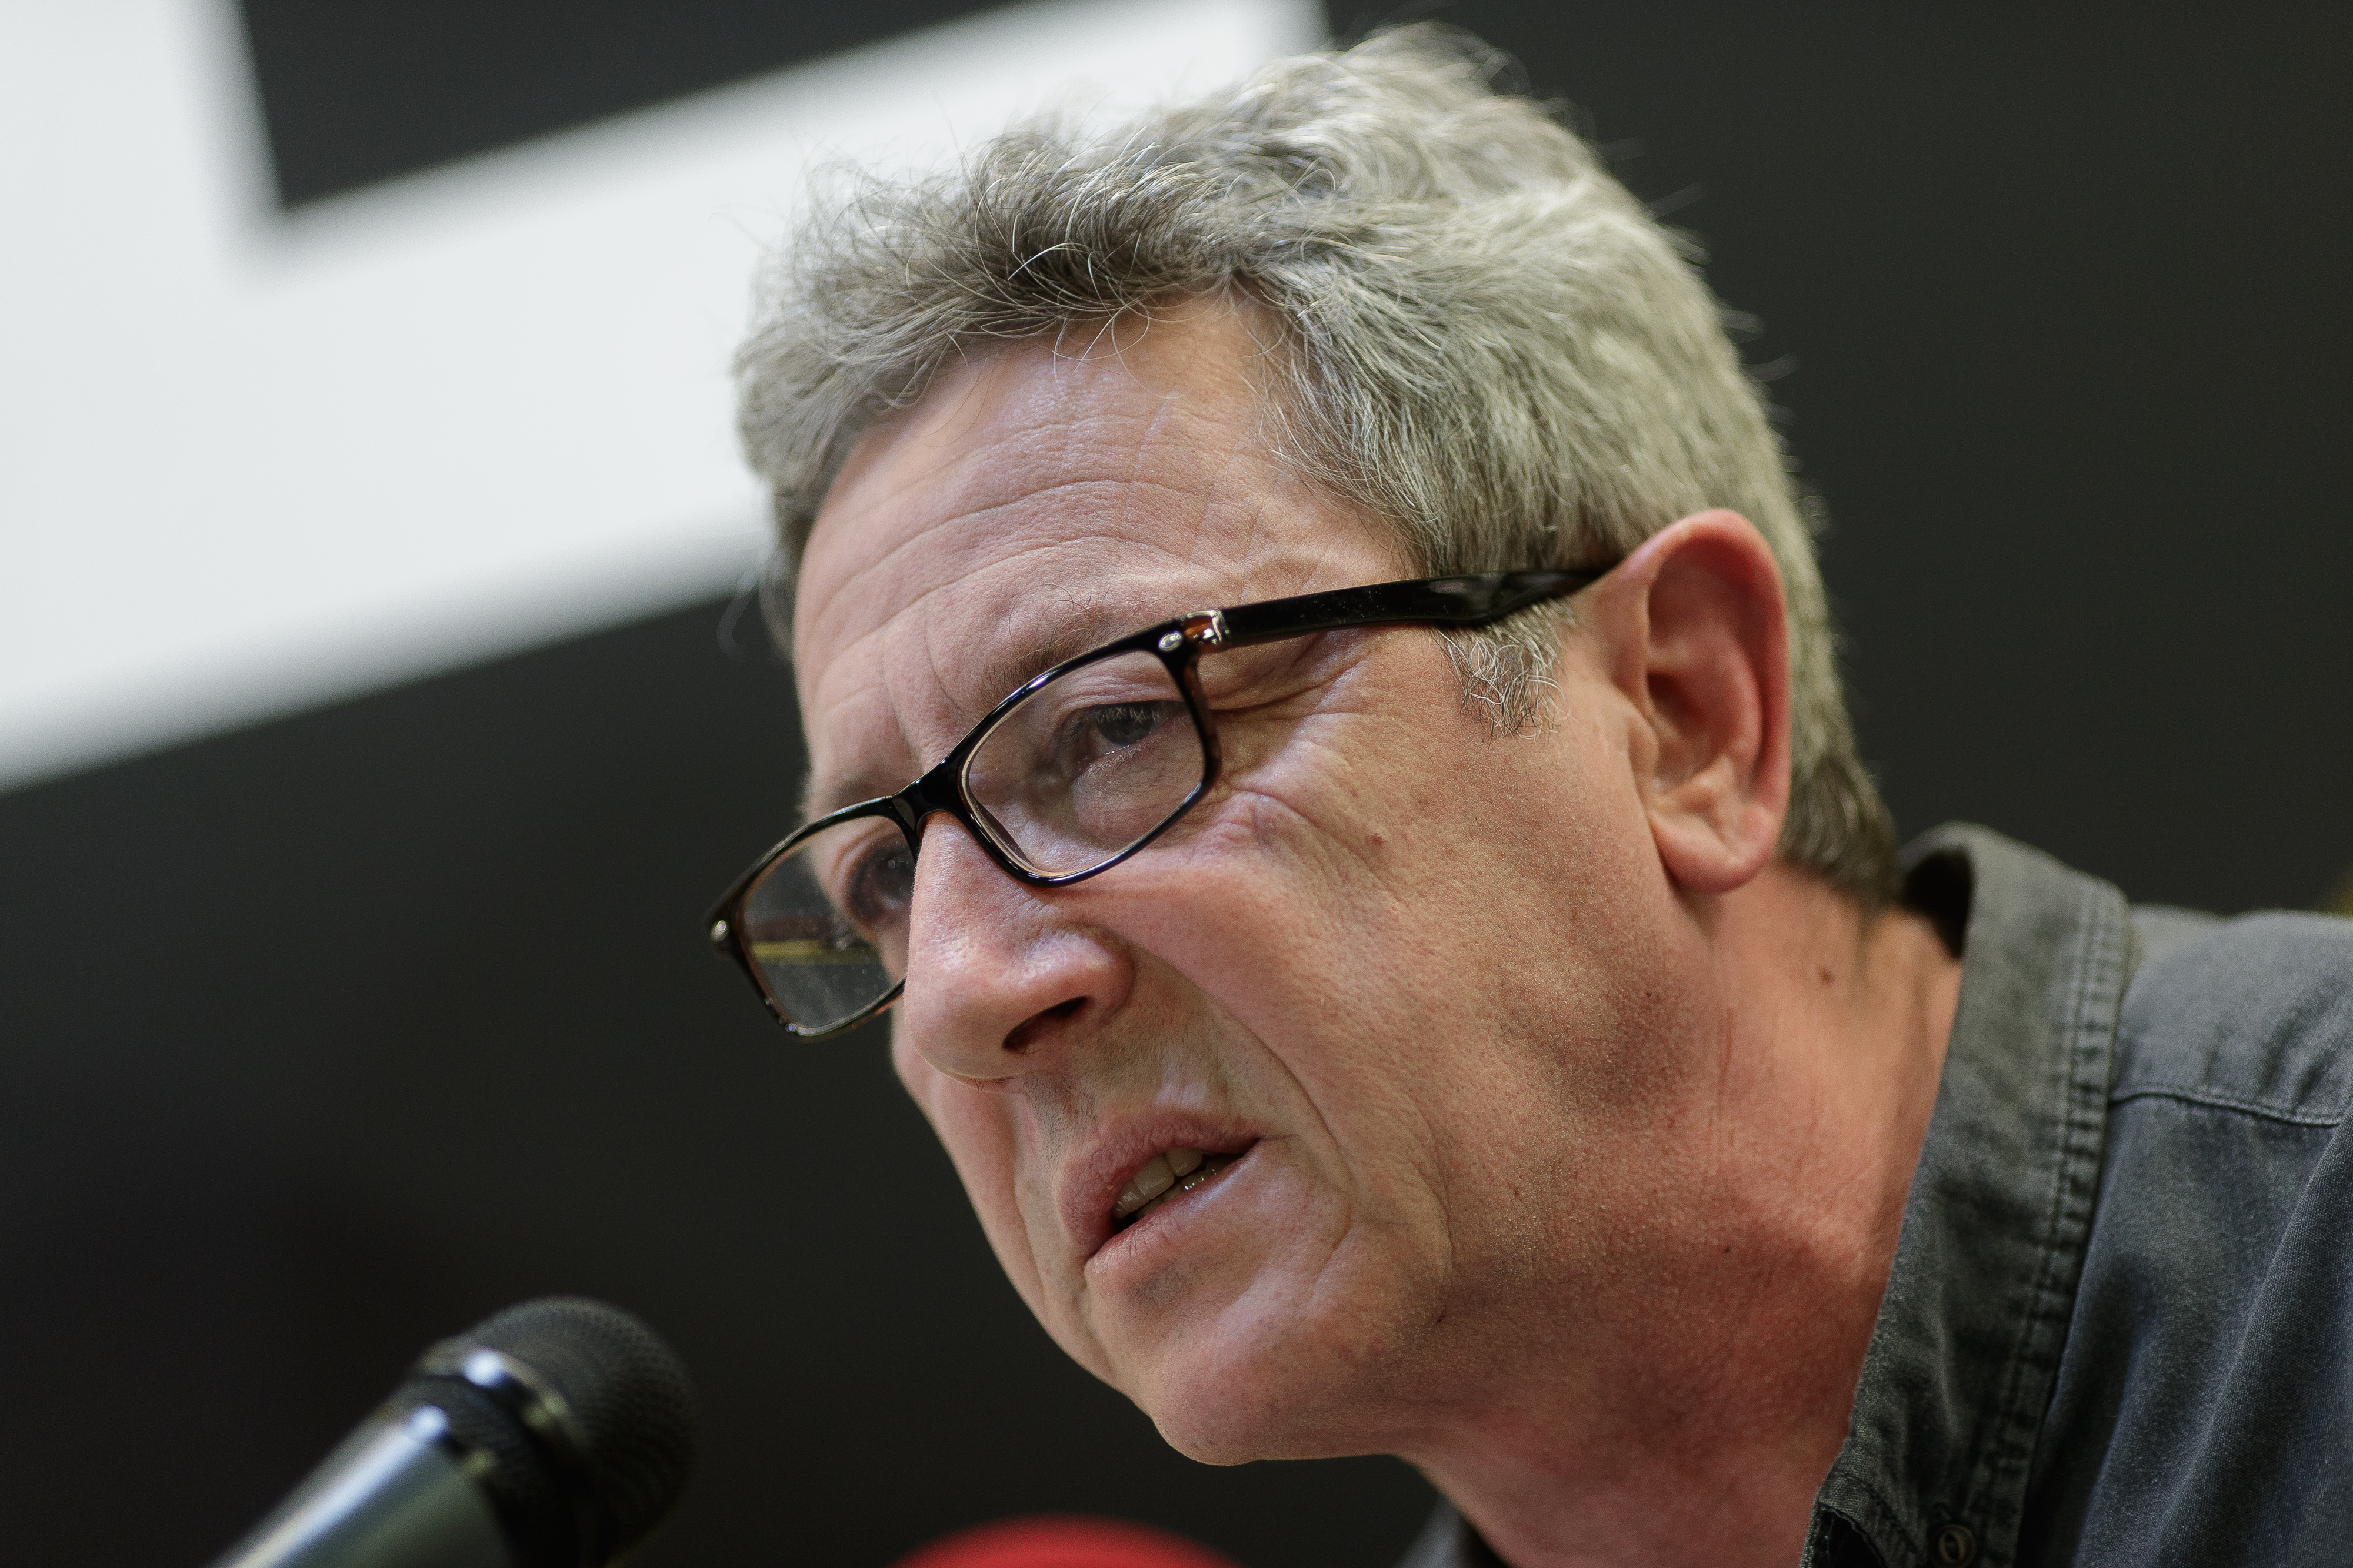
[(607, 1568), (692, 1467), (678, 1354), (619, 1307), (548, 1295), (426, 1349), (214, 1568)]

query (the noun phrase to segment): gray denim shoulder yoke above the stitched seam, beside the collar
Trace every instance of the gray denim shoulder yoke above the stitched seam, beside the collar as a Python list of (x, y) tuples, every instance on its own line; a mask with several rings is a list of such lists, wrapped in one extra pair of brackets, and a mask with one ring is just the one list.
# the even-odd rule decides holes
[(2353, 922), (2134, 910), (2115, 1100), (2334, 1126), (2353, 1107)]

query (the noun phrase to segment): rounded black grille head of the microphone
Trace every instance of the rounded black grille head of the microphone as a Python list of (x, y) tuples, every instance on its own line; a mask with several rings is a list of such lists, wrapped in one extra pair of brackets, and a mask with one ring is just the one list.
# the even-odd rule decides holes
[[(499, 1399), (468, 1382), (468, 1352), (492, 1349), (562, 1401), (560, 1443), (536, 1441)], [(438, 1403), (452, 1429), (494, 1458), (492, 1493), (529, 1559), (619, 1559), (661, 1523), (694, 1469), (694, 1389), (661, 1335), (607, 1302), (548, 1295), (496, 1312), (435, 1345), (405, 1401)], [(565, 1448), (576, 1448), (565, 1453)], [(567, 1472), (586, 1472), (569, 1474)], [(593, 1497), (598, 1544), (562, 1523), (562, 1495)], [(574, 1547), (560, 1547), (572, 1540)], [(536, 1542), (546, 1544), (546, 1552)]]

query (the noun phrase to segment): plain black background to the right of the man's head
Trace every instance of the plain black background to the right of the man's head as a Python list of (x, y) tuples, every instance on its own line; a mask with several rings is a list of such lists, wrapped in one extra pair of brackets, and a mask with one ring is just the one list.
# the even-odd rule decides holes
[(1866, 757), (2132, 898), (2353, 865), (2348, 7), (1522, 7), (1762, 317)]

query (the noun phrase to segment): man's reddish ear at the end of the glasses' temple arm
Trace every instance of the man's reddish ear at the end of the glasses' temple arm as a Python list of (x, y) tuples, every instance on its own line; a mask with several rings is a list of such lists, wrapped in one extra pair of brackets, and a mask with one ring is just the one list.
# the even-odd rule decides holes
[(1628, 757), (1666, 872), (1729, 893), (1788, 816), (1788, 614), (1739, 512), (1661, 529), (1593, 585), (1586, 623), (1633, 705)]

